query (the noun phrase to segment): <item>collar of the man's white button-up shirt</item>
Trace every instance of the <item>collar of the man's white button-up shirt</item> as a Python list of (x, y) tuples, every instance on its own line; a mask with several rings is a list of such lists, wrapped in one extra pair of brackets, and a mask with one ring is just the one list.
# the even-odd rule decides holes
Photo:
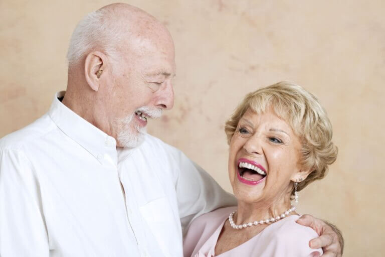
[(61, 91), (55, 94), (48, 112), (59, 129), (97, 159), (103, 158), (107, 148), (112, 147), (116, 152), (116, 140), (113, 137), (99, 130), (58, 99), (64, 97), (65, 93), (66, 91)]

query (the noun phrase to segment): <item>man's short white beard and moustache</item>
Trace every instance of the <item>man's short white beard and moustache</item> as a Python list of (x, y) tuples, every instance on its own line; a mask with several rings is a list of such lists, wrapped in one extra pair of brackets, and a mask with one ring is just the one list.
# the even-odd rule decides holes
[[(162, 115), (162, 109), (156, 108), (151, 109), (147, 106), (140, 107), (136, 111), (141, 111), (148, 115), (149, 118), (158, 118)], [(124, 148), (135, 148), (140, 146), (144, 140), (144, 135), (147, 132), (146, 127), (139, 126), (136, 122), (133, 122), (135, 113), (132, 113), (130, 116), (117, 120), (119, 126), (119, 134), (117, 141)]]

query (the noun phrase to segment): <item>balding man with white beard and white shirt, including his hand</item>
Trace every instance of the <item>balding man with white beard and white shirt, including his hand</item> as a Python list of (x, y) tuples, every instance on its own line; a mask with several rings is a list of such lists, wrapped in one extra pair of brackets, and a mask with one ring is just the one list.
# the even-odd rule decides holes
[[(235, 201), (145, 134), (173, 105), (169, 32), (142, 10), (109, 5), (77, 26), (68, 60), (67, 91), (0, 142), (0, 255), (182, 256), (189, 222)], [(328, 225), (303, 222), (323, 234), (314, 247), (340, 254)]]

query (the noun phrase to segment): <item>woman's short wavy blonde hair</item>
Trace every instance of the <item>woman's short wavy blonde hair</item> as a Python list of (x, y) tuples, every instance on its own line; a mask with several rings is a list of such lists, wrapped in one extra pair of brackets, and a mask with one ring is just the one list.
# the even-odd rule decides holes
[(301, 164), (305, 170), (311, 170), (311, 173), (298, 184), (298, 191), (325, 177), (328, 165), (337, 158), (338, 149), (331, 142), (333, 132), (330, 120), (314, 95), (291, 81), (282, 81), (248, 93), (226, 122), (228, 144), (247, 110), (256, 114), (273, 110), (278, 117), (291, 125), (300, 138)]

